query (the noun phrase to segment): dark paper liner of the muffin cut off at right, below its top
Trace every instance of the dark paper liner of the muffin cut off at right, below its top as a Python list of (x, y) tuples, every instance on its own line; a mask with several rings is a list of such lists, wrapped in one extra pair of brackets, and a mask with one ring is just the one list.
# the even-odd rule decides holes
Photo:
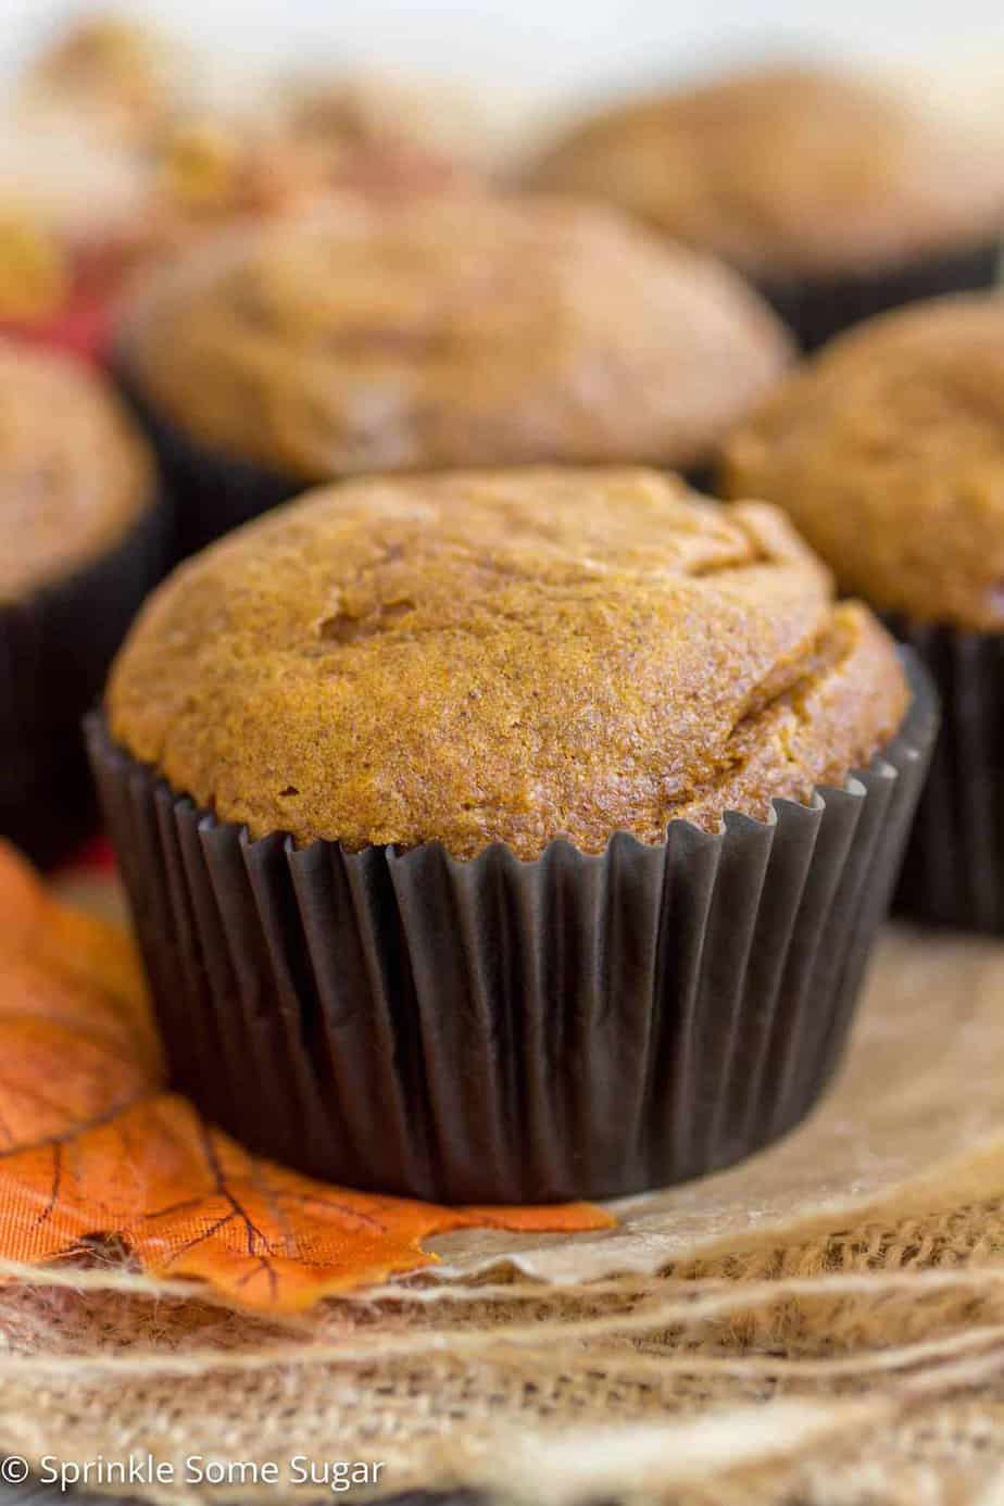
[(894, 908), (1004, 935), (1004, 634), (885, 622), (923, 660), (944, 709)]

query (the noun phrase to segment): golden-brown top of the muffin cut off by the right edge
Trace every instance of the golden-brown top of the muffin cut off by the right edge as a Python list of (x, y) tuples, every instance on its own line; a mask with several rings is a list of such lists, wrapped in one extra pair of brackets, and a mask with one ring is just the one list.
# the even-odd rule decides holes
[(723, 485), (780, 503), (876, 607), (1004, 630), (1004, 298), (841, 336), (730, 438)]

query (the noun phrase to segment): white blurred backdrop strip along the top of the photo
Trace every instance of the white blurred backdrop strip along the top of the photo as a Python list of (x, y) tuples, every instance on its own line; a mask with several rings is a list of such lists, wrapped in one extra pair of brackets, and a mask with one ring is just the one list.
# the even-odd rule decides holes
[[(0, 69), (86, 0), (0, 0)], [(122, 0), (214, 50), (295, 66), (440, 74), (477, 86), (596, 92), (778, 48), (978, 72), (1004, 95), (1004, 0)]]

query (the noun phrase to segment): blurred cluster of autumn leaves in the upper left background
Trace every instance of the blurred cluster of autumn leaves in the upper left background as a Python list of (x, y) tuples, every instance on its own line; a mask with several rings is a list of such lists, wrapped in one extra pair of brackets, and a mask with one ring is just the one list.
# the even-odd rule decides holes
[(438, 119), (403, 84), (286, 89), (128, 20), (75, 24), (29, 66), (0, 131), (0, 325), (101, 357), (134, 271), (221, 226), (345, 188), (394, 200), (470, 181), (434, 145)]

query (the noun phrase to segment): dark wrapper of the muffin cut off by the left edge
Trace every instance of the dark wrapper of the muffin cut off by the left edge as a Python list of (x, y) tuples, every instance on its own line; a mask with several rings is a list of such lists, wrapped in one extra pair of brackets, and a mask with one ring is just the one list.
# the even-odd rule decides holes
[(172, 508), (160, 497), (99, 559), (0, 605), (0, 837), (44, 866), (95, 827), (80, 720), (164, 574), (170, 532)]

